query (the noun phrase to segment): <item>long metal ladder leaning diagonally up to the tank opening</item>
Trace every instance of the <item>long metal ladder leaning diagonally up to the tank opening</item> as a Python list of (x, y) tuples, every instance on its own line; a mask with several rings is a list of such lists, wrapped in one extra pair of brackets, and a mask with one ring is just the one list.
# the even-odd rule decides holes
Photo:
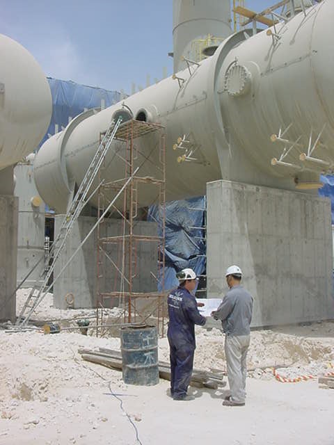
[(106, 133), (104, 134), (104, 137), (102, 138), (101, 143), (97, 151), (95, 152), (95, 155), (93, 156), (88, 170), (86, 171), (86, 175), (81, 181), (78, 191), (75, 194), (70, 206), (67, 208), (67, 213), (65, 215), (65, 218), (63, 219), (63, 223), (61, 224), (58, 236), (52, 244), (49, 254), (45, 259), (45, 264), (48, 265), (51, 262), (51, 265), (47, 269), (47, 273), (45, 273), (45, 270), (42, 270), (40, 276), (38, 277), (38, 280), (35, 281), (35, 284), (33, 285), (33, 288), (31, 289), (28, 298), (24, 302), (24, 306), (22, 307), (22, 310), (17, 317), (16, 325), (23, 326), (28, 323), (29, 318), (35, 311), (36, 307), (38, 307), (42, 299), (45, 297), (47, 289), (50, 288), (50, 286), (48, 286), (48, 282), (52, 273), (54, 272), (56, 260), (61, 254), (61, 250), (63, 250), (67, 236), (72, 231), (73, 225), (79, 217), (82, 209), (84, 209), (86, 203), (90, 200), (90, 198), (95, 194), (95, 192), (101, 185), (99, 184), (97, 188), (95, 188), (95, 191), (93, 191), (93, 193), (91, 193), (90, 196), (87, 198), (88, 191), (90, 191), (90, 187), (93, 184), (97, 172), (100, 170), (102, 162), (106, 157), (106, 153), (111, 147), (113, 138), (115, 138), (116, 132), (118, 131), (121, 123), (122, 118), (119, 118), (116, 124), (114, 121), (112, 121), (108, 129), (106, 130)]

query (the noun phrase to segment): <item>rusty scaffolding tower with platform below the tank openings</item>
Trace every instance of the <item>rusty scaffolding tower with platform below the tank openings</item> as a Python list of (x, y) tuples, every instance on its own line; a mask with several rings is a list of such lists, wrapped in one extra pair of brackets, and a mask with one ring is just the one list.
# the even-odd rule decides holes
[[(103, 133), (100, 136), (103, 138)], [(106, 165), (99, 172), (98, 218), (124, 186), (126, 188), (113, 204), (113, 229), (110, 233), (104, 218), (97, 226), (96, 316), (97, 334), (102, 334), (107, 323), (103, 319), (105, 307), (118, 307), (120, 315), (113, 326), (127, 323), (155, 323), (164, 336), (166, 294), (164, 292), (165, 225), (166, 225), (166, 135), (160, 124), (129, 120), (116, 132), (120, 149), (116, 150), (124, 176), (116, 180), (106, 178)], [(150, 165), (150, 176), (143, 176), (141, 167)], [(129, 179), (131, 180), (129, 181)], [(145, 197), (144, 197), (145, 195)], [(149, 196), (149, 197), (148, 197)], [(148, 202), (149, 201), (149, 202)], [(145, 207), (144, 207), (144, 204)], [(147, 220), (152, 204), (159, 208), (157, 234), (143, 233), (141, 221)], [(115, 234), (116, 232), (116, 234)], [(145, 232), (145, 230), (144, 230)], [(155, 270), (140, 264), (139, 252), (149, 252)], [(144, 289), (139, 269), (150, 277)], [(148, 281), (148, 280), (147, 280)], [(146, 283), (146, 286), (148, 284)]]

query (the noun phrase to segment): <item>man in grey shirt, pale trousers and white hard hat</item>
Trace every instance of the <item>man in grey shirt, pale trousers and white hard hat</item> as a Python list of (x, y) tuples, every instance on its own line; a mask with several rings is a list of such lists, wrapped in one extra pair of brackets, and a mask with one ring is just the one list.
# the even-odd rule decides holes
[(241, 277), (239, 266), (230, 266), (226, 270), (226, 282), (230, 290), (218, 309), (212, 312), (216, 320), (221, 320), (225, 332), (225, 357), (231, 391), (230, 396), (223, 401), (225, 406), (244, 406), (246, 400), (246, 357), (253, 297), (240, 285)]

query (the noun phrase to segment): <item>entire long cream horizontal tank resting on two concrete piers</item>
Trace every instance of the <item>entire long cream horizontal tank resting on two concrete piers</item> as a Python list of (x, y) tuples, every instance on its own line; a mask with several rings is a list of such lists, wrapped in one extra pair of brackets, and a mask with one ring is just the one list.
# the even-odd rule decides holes
[[(334, 167), (333, 19), (334, 3), (323, 0), (305, 15), (257, 35), (241, 31), (200, 64), (100, 113), (79, 116), (36, 156), (35, 181), (43, 200), (56, 211), (66, 210), (73, 184), (80, 184), (97, 149), (100, 131), (122, 104), (134, 118), (166, 127), (168, 200), (204, 194), (206, 183), (220, 178), (317, 188), (319, 173)], [(180, 152), (173, 145), (184, 136), (196, 161), (177, 163)], [(141, 175), (154, 172), (154, 162), (145, 162), (145, 156), (156, 137), (145, 136), (138, 144)], [(113, 143), (107, 179), (124, 176), (124, 163), (115, 154), (122, 150), (122, 143)], [(140, 204), (151, 199), (144, 194)]]

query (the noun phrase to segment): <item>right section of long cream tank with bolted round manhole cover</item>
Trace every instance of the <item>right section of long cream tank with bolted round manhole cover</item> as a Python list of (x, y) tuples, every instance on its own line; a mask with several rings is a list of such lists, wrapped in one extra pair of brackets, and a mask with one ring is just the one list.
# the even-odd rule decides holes
[[(306, 17), (299, 13), (258, 33), (226, 57), (224, 45), (217, 51), (216, 92), (234, 152), (232, 157), (221, 152), (223, 177), (257, 184), (254, 175), (260, 170), (282, 179), (294, 177), (300, 184), (312, 177), (319, 183), (319, 172), (334, 166), (333, 19), (333, 2), (325, 0), (309, 8)], [(278, 140), (280, 129), (287, 131)], [(314, 144), (312, 158), (328, 165), (301, 162), (301, 153)], [(287, 165), (271, 165), (285, 149)]]

